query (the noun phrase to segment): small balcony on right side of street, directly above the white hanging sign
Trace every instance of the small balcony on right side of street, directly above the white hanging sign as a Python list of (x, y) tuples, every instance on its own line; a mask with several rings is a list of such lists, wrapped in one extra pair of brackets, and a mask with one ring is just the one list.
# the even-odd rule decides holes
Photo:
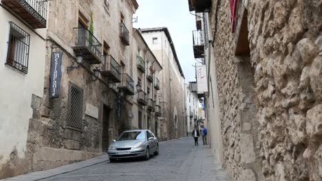
[(193, 31), (193, 54), (195, 58), (204, 58), (204, 33), (202, 30)]

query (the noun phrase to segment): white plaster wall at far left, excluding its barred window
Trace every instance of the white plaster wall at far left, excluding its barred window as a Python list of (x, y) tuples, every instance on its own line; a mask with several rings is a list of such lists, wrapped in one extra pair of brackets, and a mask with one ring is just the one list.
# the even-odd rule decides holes
[[(5, 65), (9, 21), (30, 34), (28, 74)], [(10, 153), (17, 149), (19, 158), (24, 158), (29, 119), (32, 118), (32, 94), (43, 97), (45, 41), (21, 21), (0, 7), (0, 166), (7, 162)], [(45, 29), (36, 30), (45, 37)]]

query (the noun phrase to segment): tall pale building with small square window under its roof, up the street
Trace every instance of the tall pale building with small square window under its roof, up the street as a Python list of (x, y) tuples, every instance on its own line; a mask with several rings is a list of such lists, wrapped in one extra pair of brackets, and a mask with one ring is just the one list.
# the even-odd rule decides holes
[(160, 71), (160, 138), (169, 140), (186, 135), (184, 74), (167, 27), (141, 29), (144, 40), (162, 66)]

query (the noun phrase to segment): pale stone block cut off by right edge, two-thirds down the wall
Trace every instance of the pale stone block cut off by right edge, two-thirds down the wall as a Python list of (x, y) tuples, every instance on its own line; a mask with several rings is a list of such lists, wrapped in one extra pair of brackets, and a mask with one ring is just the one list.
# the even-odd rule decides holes
[(308, 136), (322, 136), (322, 104), (308, 110), (306, 114), (306, 132)]

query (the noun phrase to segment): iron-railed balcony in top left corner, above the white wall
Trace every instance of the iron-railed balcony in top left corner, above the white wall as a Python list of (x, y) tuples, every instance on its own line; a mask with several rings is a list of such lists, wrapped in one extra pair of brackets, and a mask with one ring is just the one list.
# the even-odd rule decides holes
[(1, 2), (20, 16), (21, 19), (29, 23), (34, 29), (46, 27), (47, 1), (1, 0)]

